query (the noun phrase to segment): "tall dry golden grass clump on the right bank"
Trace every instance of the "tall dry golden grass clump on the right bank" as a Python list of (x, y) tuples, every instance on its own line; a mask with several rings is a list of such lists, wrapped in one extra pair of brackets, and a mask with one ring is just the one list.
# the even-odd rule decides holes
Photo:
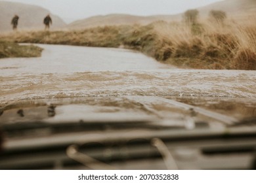
[(256, 69), (256, 25), (252, 22), (204, 21), (195, 27), (157, 24), (158, 35), (169, 42), (169, 63), (198, 69)]

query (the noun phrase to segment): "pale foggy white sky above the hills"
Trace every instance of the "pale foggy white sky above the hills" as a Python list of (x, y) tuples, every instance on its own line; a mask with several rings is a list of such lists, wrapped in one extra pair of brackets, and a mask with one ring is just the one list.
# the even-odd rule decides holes
[[(7, 1), (7, 0), (5, 0)], [(148, 16), (177, 14), (221, 0), (9, 0), (38, 5), (60, 16), (65, 22), (95, 15), (122, 13)]]

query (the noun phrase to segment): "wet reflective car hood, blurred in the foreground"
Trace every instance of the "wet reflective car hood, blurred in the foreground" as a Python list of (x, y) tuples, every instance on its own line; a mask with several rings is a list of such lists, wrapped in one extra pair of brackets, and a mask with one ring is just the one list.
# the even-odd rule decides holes
[(255, 169), (255, 118), (142, 96), (22, 101), (2, 111), (0, 169)]

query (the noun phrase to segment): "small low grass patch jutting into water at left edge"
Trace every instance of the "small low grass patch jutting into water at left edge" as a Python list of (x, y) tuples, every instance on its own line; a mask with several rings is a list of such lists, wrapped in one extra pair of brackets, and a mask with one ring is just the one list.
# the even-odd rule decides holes
[(30, 58), (41, 56), (38, 46), (21, 46), (15, 42), (0, 41), (0, 58)]

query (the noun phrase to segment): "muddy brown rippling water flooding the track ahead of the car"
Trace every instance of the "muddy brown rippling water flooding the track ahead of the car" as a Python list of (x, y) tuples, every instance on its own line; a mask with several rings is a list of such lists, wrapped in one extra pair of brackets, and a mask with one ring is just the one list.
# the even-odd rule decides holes
[(0, 60), (0, 107), (30, 99), (146, 95), (255, 115), (256, 71), (176, 69), (130, 50), (39, 46), (41, 58)]

